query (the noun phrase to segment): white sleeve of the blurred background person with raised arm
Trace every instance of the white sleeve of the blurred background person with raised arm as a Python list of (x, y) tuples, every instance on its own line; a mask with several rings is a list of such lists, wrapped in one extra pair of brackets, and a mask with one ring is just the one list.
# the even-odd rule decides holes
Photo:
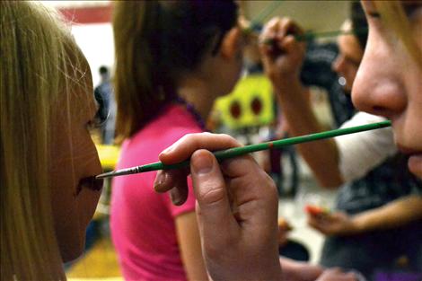
[[(384, 120), (380, 116), (357, 112), (341, 127), (354, 127)], [(338, 145), (339, 170), (346, 182), (362, 178), (367, 172), (397, 153), (391, 127), (337, 136), (334, 139)]]

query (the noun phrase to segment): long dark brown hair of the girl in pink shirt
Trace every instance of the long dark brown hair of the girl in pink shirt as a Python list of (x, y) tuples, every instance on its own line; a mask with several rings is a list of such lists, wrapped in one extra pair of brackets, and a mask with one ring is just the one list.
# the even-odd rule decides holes
[(123, 1), (115, 4), (115, 92), (119, 137), (133, 136), (175, 95), (180, 75), (215, 55), (237, 21), (233, 1)]

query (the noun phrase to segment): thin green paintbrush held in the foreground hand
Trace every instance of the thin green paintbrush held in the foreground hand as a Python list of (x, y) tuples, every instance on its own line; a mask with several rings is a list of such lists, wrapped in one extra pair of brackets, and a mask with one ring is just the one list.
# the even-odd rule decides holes
[[(281, 148), (287, 145), (297, 145), (307, 142), (312, 142), (315, 140), (330, 138), (333, 136), (342, 136), (347, 134), (354, 134), (358, 132), (373, 130), (377, 128), (382, 127), (390, 127), (391, 121), (383, 121), (379, 123), (373, 123), (373, 124), (366, 124), (362, 126), (356, 126), (356, 127), (347, 127), (347, 128), (339, 128), (331, 131), (306, 135), (306, 136), (295, 136), (285, 139), (280, 139), (268, 143), (262, 143), (258, 145), (246, 145), (241, 147), (234, 147), (226, 150), (216, 151), (214, 153), (215, 158), (218, 160), (218, 162), (224, 161), (225, 159), (233, 158), (236, 156), (241, 156), (244, 154), (250, 154), (261, 150), (267, 150), (272, 148)], [(118, 171), (110, 171), (101, 173), (100, 175), (96, 176), (97, 179), (102, 178), (110, 178), (110, 177), (116, 177), (116, 176), (122, 176), (122, 175), (128, 175), (133, 173), (139, 173), (144, 171), (157, 171), (157, 170), (169, 170), (169, 169), (179, 169), (189, 166), (189, 160), (186, 160), (184, 162), (179, 162), (171, 165), (163, 164), (163, 162), (154, 162), (142, 166), (136, 166), (132, 168), (122, 169)]]

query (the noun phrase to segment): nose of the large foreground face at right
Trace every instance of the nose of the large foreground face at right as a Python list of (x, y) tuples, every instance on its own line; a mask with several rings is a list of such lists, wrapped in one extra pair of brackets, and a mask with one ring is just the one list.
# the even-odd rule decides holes
[(358, 110), (388, 119), (406, 109), (407, 97), (393, 57), (367, 49), (356, 75), (352, 99)]

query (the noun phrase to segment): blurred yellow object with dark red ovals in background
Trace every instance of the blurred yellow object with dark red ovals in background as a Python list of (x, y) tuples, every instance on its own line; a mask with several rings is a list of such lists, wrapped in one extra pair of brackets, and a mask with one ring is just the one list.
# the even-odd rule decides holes
[(247, 75), (233, 92), (215, 101), (221, 121), (233, 129), (268, 125), (274, 119), (271, 83), (265, 75)]

